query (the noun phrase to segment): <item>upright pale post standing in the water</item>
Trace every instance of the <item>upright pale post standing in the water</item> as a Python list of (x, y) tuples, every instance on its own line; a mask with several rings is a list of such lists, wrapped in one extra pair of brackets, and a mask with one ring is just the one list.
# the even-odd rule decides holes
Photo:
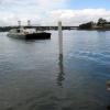
[(59, 43), (59, 55), (63, 56), (63, 31), (62, 22), (58, 22), (58, 43)]

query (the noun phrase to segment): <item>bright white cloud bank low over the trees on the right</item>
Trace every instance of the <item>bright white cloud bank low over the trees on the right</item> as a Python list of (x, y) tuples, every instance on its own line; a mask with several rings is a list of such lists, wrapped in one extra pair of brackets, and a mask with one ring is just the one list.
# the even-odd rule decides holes
[(110, 10), (106, 9), (84, 9), (84, 10), (54, 10), (48, 13), (46, 24), (57, 24), (63, 21), (64, 25), (79, 25), (89, 21), (96, 22), (99, 18), (110, 20)]

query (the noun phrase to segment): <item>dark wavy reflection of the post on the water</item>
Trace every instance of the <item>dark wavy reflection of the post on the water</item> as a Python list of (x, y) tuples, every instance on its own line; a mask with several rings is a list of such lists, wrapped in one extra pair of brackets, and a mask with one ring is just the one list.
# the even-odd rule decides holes
[(65, 80), (63, 55), (59, 55), (58, 59), (59, 73), (57, 76), (57, 85), (63, 87), (63, 80)]

